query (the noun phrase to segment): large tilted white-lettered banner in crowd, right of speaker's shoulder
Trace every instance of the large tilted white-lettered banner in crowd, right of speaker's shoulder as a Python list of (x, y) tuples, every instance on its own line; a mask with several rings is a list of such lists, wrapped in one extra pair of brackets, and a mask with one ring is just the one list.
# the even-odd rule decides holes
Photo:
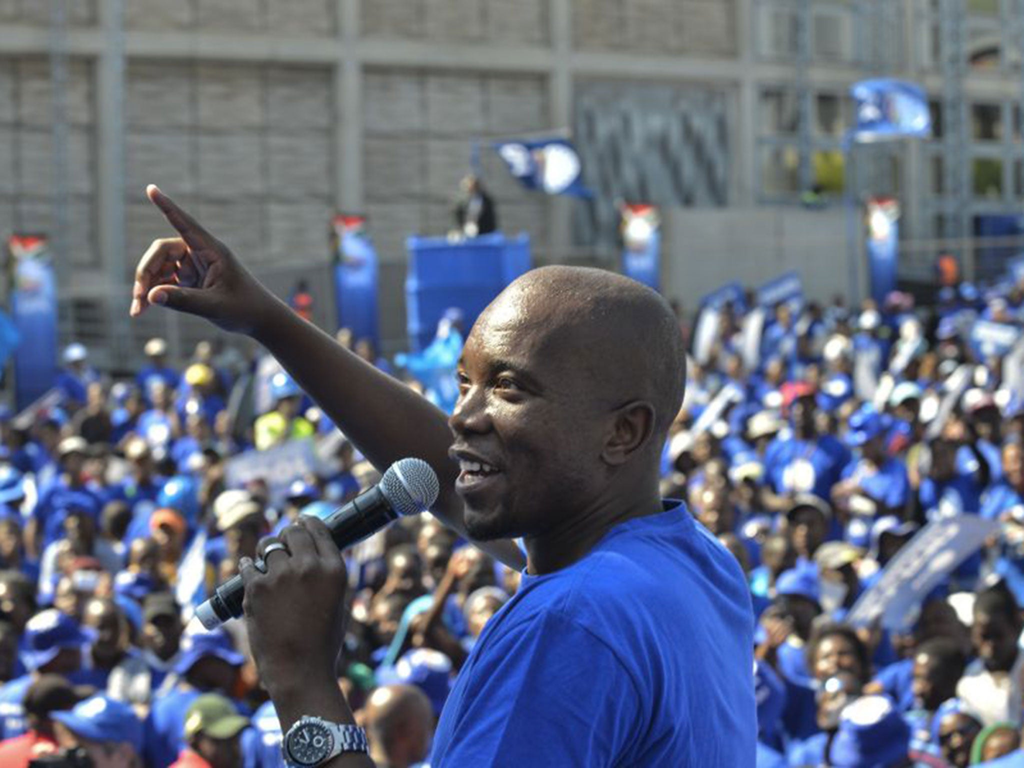
[(884, 629), (906, 629), (929, 593), (998, 529), (997, 520), (969, 514), (928, 523), (857, 599), (847, 623), (867, 627), (881, 620)]

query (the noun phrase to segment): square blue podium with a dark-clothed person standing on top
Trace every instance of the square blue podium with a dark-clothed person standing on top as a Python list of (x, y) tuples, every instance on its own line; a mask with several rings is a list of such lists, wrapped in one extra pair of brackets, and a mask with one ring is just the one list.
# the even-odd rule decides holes
[(419, 351), (433, 341), (437, 322), (450, 307), (465, 318), (464, 333), (502, 289), (529, 269), (529, 236), (501, 232), (462, 242), (412, 236), (406, 278), (407, 329)]

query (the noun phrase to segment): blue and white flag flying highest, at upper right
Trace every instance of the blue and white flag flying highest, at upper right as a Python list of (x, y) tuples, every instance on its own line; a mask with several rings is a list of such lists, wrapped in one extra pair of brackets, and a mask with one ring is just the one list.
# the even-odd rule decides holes
[(857, 124), (850, 135), (858, 143), (932, 135), (928, 97), (913, 83), (862, 80), (850, 87), (850, 95), (857, 104)]

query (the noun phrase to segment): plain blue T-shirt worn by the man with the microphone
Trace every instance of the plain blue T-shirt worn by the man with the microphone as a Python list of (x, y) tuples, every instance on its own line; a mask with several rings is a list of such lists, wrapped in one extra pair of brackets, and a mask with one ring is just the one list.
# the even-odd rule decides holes
[(753, 647), (736, 561), (669, 503), (523, 575), (456, 681), (430, 764), (752, 765)]

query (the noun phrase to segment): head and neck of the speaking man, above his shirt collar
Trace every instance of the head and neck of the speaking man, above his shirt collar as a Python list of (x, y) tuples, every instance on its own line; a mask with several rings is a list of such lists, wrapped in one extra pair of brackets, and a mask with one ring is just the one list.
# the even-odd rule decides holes
[(522, 537), (531, 567), (555, 568), (612, 520), (659, 510), (684, 360), (675, 315), (639, 283), (566, 266), (512, 283), (466, 339), (449, 420), (470, 536)]

